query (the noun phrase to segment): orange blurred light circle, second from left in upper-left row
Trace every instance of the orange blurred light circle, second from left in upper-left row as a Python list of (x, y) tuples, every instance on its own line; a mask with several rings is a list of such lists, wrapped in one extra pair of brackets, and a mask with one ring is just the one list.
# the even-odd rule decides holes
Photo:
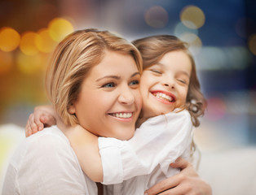
[(20, 40), (20, 50), (26, 55), (38, 54), (38, 47), (36, 46), (36, 32), (24, 32)]

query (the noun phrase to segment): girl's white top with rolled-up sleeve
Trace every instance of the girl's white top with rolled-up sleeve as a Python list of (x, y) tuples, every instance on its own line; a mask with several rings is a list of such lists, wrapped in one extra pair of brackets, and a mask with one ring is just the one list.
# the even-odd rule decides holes
[(189, 159), (191, 143), (192, 120), (186, 110), (148, 119), (129, 141), (99, 137), (103, 184), (115, 184), (105, 187), (105, 194), (143, 194), (178, 173), (170, 163), (180, 156)]

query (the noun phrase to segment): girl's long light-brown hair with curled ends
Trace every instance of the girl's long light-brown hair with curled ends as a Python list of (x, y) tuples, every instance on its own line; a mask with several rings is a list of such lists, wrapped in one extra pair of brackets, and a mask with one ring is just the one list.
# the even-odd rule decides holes
[(192, 117), (192, 124), (198, 127), (200, 125), (198, 117), (204, 115), (206, 100), (201, 93), (200, 83), (196, 76), (196, 64), (187, 44), (180, 41), (178, 37), (171, 35), (144, 37), (133, 41), (133, 44), (138, 48), (143, 58), (143, 69), (158, 63), (170, 51), (182, 50), (188, 54), (192, 63), (192, 72), (188, 85), (186, 109)]

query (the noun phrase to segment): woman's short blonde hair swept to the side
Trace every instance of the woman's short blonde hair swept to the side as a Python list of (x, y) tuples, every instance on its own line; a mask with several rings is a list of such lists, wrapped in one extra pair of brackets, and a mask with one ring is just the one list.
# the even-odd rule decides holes
[(108, 31), (79, 30), (69, 34), (55, 48), (46, 72), (46, 89), (64, 124), (78, 123), (77, 117), (68, 113), (68, 108), (77, 100), (86, 73), (102, 61), (106, 50), (131, 55), (142, 72), (142, 59), (135, 46)]

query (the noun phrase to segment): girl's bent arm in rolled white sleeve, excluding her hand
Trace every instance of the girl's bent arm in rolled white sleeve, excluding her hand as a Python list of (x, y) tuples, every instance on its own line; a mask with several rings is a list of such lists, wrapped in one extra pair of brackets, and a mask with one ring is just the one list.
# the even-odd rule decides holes
[[(190, 145), (191, 128), (188, 111), (181, 111), (148, 120), (135, 132), (135, 137), (130, 141), (99, 137), (99, 152), (103, 167), (99, 153), (97, 154), (98, 148), (95, 147), (97, 142), (95, 137), (92, 138), (89, 132), (81, 127), (76, 131), (68, 131), (71, 133), (66, 136), (77, 154), (83, 171), (92, 180), (102, 181), (104, 176), (104, 184), (117, 184), (134, 176), (149, 174), (158, 164), (166, 173), (169, 164), (183, 154)], [(94, 152), (91, 153), (91, 150)], [(88, 162), (88, 154), (95, 154), (95, 157), (90, 156), (92, 163)], [(94, 163), (95, 167), (89, 168)], [(99, 171), (91, 171), (97, 170), (96, 167)]]

